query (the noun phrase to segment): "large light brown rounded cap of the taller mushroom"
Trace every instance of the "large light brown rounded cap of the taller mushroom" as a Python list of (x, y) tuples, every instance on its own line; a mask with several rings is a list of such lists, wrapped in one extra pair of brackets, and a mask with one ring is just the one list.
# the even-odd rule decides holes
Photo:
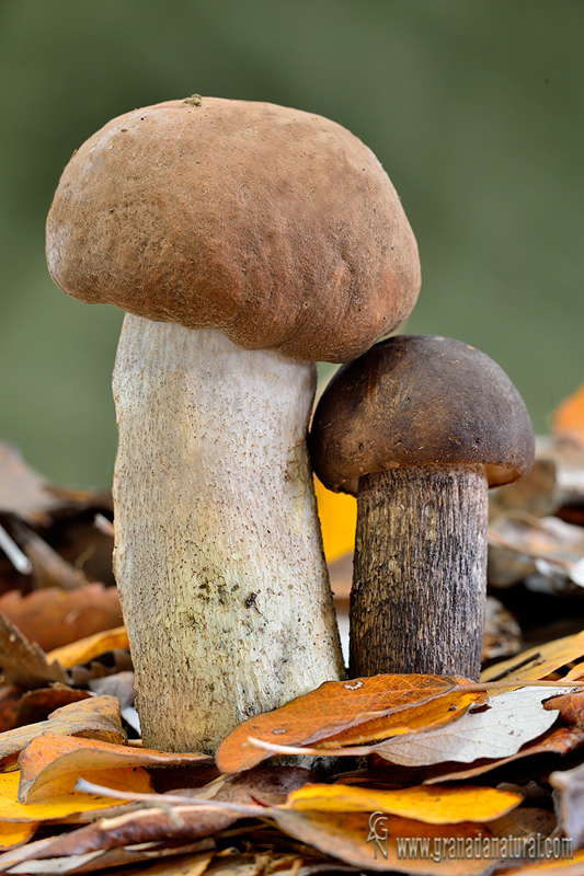
[(415, 238), (360, 140), (213, 97), (136, 110), (83, 143), (48, 215), (47, 262), (82, 301), (329, 361), (401, 324), (420, 289)]

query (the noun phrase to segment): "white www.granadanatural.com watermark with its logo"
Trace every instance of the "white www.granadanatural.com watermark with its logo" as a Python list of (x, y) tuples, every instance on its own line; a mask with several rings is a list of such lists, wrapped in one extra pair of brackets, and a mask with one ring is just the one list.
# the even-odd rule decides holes
[[(367, 842), (374, 843), (374, 857), (386, 858), (389, 851), (387, 815), (369, 817)], [(574, 856), (569, 837), (396, 837), (398, 861), (565, 861)]]

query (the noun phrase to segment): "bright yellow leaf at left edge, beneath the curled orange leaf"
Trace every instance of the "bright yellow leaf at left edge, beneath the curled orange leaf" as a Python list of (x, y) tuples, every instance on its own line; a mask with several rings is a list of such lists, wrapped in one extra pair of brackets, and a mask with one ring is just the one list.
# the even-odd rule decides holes
[[(88, 781), (102, 777), (103, 773), (88, 771)], [(119, 805), (114, 797), (82, 794), (73, 791), (75, 776), (66, 775), (46, 785), (35, 794), (33, 803), (19, 802), (20, 773), (0, 773), (0, 821), (62, 821), (78, 812), (96, 811)], [(150, 776), (141, 768), (112, 770), (107, 784), (116, 791), (148, 793)]]

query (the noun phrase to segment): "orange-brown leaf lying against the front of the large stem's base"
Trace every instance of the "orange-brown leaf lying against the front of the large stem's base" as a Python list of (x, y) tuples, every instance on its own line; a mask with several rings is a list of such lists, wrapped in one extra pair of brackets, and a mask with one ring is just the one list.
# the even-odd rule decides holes
[(446, 676), (374, 676), (325, 681), (316, 691), (240, 724), (217, 749), (221, 772), (248, 770), (270, 754), (254, 748), (254, 737), (267, 742), (309, 745), (381, 715), (422, 705), (451, 693), (466, 679)]

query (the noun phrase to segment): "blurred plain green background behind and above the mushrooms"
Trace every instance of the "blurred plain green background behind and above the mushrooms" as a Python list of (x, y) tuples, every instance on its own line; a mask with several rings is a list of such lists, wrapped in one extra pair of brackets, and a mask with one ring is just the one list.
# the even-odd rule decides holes
[(420, 244), (408, 330), (483, 349), (545, 431), (584, 380), (583, 36), (581, 0), (0, 0), (0, 437), (110, 484), (122, 313), (53, 285), (45, 216), (94, 130), (193, 92), (370, 146)]

